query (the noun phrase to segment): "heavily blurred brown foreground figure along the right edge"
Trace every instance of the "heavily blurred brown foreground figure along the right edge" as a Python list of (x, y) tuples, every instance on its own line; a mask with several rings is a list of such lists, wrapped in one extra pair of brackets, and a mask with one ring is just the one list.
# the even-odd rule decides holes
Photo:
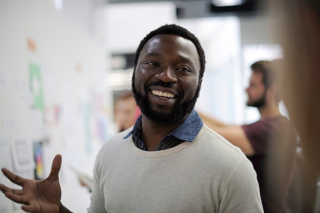
[(283, 100), (301, 138), (303, 212), (314, 212), (320, 173), (320, 1), (273, 0), (271, 11), (284, 52)]

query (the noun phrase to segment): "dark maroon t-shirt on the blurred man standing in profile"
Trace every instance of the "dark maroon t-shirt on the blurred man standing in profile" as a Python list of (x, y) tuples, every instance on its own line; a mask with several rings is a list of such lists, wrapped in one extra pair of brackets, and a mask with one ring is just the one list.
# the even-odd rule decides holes
[(248, 156), (257, 173), (265, 213), (287, 212), (286, 198), (296, 154), (296, 133), (286, 117), (242, 126), (255, 150)]

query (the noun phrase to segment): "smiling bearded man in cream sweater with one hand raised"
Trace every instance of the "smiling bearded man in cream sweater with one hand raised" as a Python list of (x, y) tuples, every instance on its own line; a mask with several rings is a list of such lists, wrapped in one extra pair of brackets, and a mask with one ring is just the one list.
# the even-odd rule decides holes
[[(204, 65), (185, 28), (165, 25), (141, 41), (132, 91), (142, 115), (99, 152), (88, 212), (263, 212), (252, 164), (193, 109)], [(24, 190), (0, 189), (28, 212), (70, 212), (60, 203), (60, 165), (57, 155), (43, 181), (4, 169)]]

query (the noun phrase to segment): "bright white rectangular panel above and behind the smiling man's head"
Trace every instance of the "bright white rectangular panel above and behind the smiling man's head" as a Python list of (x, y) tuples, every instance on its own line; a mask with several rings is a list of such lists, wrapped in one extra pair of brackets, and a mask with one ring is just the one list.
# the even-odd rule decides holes
[(175, 20), (172, 2), (108, 5), (105, 8), (106, 48), (110, 52), (135, 52), (151, 30)]

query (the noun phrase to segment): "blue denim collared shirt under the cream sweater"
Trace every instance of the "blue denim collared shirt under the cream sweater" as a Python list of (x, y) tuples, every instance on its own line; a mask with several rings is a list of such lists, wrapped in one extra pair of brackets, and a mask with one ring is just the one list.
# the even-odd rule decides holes
[[(169, 135), (165, 135), (161, 139), (161, 141), (155, 148), (155, 151), (169, 149), (181, 143), (184, 143), (185, 141), (192, 142), (198, 135), (202, 126), (203, 126), (203, 122), (199, 114), (195, 110), (193, 110), (182, 124), (180, 124)], [(142, 141), (141, 130), (142, 130), (142, 115), (140, 115), (138, 120), (136, 120), (132, 131), (130, 131), (129, 134), (124, 138), (128, 138), (132, 134), (134, 145), (141, 150), (147, 151), (147, 148)]]

